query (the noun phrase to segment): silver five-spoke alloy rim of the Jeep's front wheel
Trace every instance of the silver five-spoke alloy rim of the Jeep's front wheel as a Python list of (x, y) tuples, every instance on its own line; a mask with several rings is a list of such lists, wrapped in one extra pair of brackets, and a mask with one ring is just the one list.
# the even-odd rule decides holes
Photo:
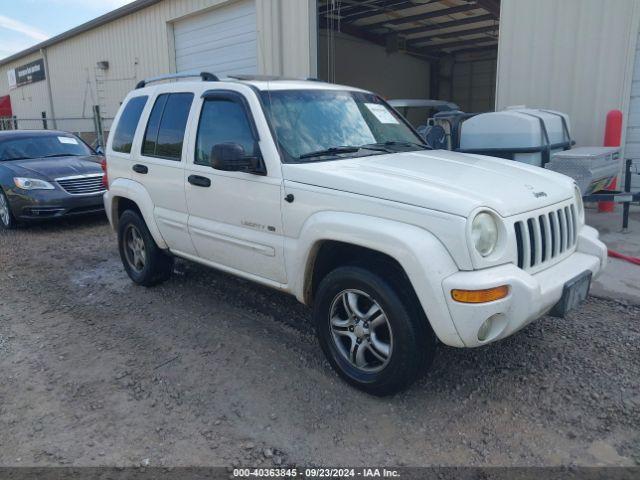
[(387, 366), (393, 351), (393, 334), (382, 307), (360, 290), (343, 290), (329, 312), (333, 342), (352, 366), (367, 373)]

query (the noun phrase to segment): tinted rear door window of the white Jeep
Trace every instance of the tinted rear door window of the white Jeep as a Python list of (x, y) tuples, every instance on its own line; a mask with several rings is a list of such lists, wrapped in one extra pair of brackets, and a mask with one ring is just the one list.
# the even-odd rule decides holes
[(142, 154), (180, 161), (192, 93), (165, 93), (153, 105), (144, 134)]

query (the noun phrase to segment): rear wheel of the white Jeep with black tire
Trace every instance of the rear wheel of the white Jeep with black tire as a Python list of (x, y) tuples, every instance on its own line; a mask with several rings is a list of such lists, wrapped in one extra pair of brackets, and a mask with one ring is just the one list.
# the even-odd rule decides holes
[[(130, 235), (137, 232), (136, 240), (142, 243), (137, 254), (128, 246)], [(142, 216), (133, 210), (126, 210), (118, 222), (118, 249), (122, 265), (134, 283), (145, 287), (158, 285), (171, 277), (173, 257), (158, 247), (151, 236)], [(134, 258), (141, 261), (134, 262)]]

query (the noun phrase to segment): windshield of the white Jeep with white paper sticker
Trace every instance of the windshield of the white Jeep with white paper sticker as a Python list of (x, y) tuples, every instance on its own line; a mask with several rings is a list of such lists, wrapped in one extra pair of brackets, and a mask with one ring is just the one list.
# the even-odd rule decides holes
[(265, 91), (262, 100), (288, 162), (427, 148), (402, 117), (370, 93)]

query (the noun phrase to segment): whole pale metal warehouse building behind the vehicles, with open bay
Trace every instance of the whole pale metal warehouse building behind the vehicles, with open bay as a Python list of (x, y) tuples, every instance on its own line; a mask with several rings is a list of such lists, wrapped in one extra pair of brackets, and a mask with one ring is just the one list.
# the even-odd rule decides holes
[(620, 109), (640, 170), (639, 24), (638, 0), (137, 0), (0, 60), (0, 97), (19, 120), (82, 131), (93, 105), (108, 129), (149, 76), (319, 77), (466, 111), (564, 111), (579, 145)]

